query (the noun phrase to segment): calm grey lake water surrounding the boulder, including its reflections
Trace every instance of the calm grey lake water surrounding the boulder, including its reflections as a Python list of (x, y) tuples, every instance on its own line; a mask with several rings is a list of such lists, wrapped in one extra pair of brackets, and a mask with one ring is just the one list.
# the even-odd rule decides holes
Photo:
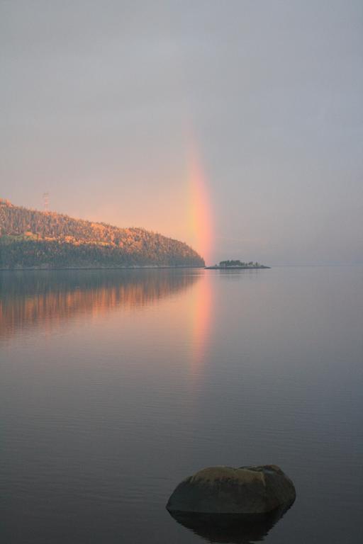
[[(0, 361), (4, 544), (362, 542), (363, 267), (2, 272)], [(164, 508), (264, 463), (297, 492), (269, 531)]]

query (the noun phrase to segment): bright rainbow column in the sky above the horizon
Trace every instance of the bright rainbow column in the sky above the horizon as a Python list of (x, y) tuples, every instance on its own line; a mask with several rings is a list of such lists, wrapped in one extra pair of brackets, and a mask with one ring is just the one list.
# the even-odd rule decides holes
[(211, 198), (208, 192), (206, 176), (195, 146), (189, 152), (188, 188), (188, 225), (191, 246), (203, 256), (206, 264), (208, 264), (213, 250)]

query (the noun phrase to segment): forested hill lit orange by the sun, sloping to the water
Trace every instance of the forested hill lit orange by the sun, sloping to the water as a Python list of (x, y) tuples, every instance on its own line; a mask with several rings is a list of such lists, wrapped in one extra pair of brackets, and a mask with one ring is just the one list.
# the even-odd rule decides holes
[(0, 199), (0, 268), (204, 266), (188, 245), (140, 228), (121, 229)]

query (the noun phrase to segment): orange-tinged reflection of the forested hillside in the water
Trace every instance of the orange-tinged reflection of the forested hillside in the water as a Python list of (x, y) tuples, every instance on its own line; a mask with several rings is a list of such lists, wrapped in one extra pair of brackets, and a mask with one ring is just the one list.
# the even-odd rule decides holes
[(196, 278), (175, 269), (0, 273), (0, 338), (76, 314), (144, 307), (187, 288)]

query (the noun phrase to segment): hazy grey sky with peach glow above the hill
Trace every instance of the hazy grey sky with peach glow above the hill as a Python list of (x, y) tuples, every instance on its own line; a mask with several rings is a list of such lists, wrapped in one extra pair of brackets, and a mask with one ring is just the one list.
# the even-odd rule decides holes
[(362, 0), (0, 8), (0, 197), (195, 244), (192, 149), (211, 261), (363, 262)]

